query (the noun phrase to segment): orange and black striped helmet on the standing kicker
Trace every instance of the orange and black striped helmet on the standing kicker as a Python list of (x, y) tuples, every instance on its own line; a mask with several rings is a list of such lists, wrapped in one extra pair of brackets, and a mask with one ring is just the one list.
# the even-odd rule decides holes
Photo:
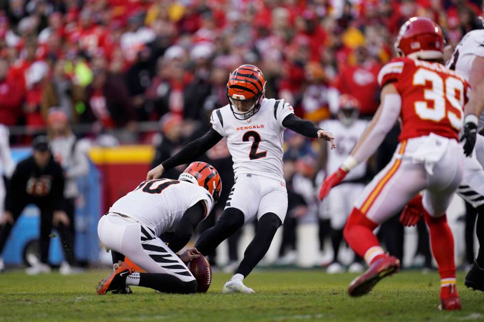
[[(240, 120), (246, 120), (254, 115), (260, 108), (266, 80), (261, 70), (254, 65), (241, 65), (229, 76), (226, 93), (230, 108), (234, 116)], [(247, 111), (240, 111), (234, 106), (234, 101), (253, 102)]]

